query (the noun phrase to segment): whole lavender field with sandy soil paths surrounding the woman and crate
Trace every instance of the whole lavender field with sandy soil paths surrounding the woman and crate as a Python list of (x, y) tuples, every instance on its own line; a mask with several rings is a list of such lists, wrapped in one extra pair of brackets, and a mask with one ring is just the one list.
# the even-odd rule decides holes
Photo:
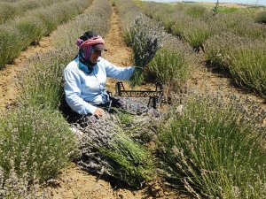
[[(0, 8), (0, 198), (266, 198), (264, 7), (0, 0)], [(86, 128), (69, 122), (62, 71), (88, 30), (106, 38), (108, 59), (138, 66), (127, 88), (163, 83), (159, 117), (117, 111)], [(85, 174), (67, 187), (69, 165)], [(113, 187), (91, 189), (86, 175)]]

